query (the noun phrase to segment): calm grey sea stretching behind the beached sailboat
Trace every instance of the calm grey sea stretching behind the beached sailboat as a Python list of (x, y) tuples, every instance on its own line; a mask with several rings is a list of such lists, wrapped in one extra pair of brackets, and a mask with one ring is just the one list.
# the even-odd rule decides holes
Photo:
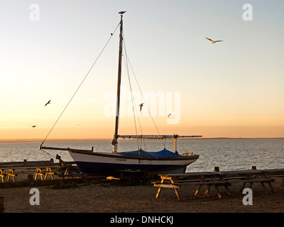
[[(161, 140), (146, 140), (143, 150), (163, 150)], [(40, 143), (0, 143), (0, 162), (32, 160), (55, 160), (56, 154), (62, 160), (72, 161), (67, 151), (39, 150)], [(111, 141), (87, 142), (46, 142), (45, 146), (60, 148), (81, 148), (89, 150), (91, 146), (97, 152), (111, 153)], [(145, 147), (146, 146), (146, 147)], [(168, 150), (174, 150), (173, 140), (165, 141)], [(119, 151), (137, 150), (135, 140), (119, 141)], [(178, 140), (179, 153), (192, 152), (200, 158), (187, 167), (187, 172), (212, 171), (214, 166), (220, 170), (248, 170), (252, 165), (258, 169), (284, 168), (284, 138), (268, 139), (210, 139)], [(57, 160), (56, 160), (57, 161)]]

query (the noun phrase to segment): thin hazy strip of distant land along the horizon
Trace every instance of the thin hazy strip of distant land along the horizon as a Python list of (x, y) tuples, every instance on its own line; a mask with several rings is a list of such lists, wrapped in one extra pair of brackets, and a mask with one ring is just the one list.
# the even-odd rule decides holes
[[(268, 138), (230, 138), (230, 137), (216, 137), (216, 138), (180, 138), (179, 140), (251, 140), (251, 139), (283, 139), (283, 137), (268, 137)], [(111, 141), (111, 138), (59, 138), (59, 139), (48, 139), (46, 142), (84, 142), (84, 141)], [(125, 139), (121, 139), (125, 140)], [(133, 139), (136, 140), (136, 139)], [(0, 143), (29, 143), (29, 142), (43, 142), (43, 139), (0, 139)]]

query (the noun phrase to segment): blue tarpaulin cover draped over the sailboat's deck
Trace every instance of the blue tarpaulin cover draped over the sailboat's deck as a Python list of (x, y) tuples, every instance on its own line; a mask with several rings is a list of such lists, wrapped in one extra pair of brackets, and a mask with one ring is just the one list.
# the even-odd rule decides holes
[[(139, 156), (140, 153), (140, 156)], [(119, 155), (125, 155), (125, 156), (133, 156), (133, 157), (178, 157), (180, 155), (171, 152), (170, 150), (160, 150), (158, 152), (148, 152), (145, 150), (133, 150), (133, 151), (126, 151), (126, 152), (120, 152)]]

